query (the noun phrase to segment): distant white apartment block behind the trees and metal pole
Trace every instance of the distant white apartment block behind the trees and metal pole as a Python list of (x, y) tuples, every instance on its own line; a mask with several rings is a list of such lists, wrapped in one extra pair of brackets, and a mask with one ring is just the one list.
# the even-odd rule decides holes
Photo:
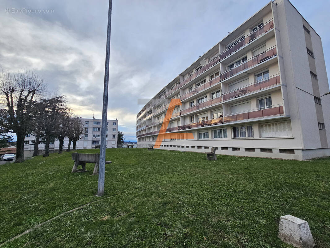
[[(101, 140), (101, 119), (85, 119), (80, 118), (85, 129), (85, 133), (82, 135), (76, 144), (76, 149), (88, 149), (94, 148), (95, 145), (100, 145)], [(107, 148), (117, 148), (117, 131), (118, 120), (107, 120)], [(33, 151), (35, 140), (33, 134), (27, 134), (25, 136), (24, 151)], [(69, 145), (69, 139), (65, 137), (63, 149), (66, 149)], [(72, 148), (71, 143), (71, 148)], [(57, 150), (59, 148), (59, 141), (55, 140), (49, 145), (49, 149)], [(39, 144), (39, 149), (44, 150), (45, 144)]]

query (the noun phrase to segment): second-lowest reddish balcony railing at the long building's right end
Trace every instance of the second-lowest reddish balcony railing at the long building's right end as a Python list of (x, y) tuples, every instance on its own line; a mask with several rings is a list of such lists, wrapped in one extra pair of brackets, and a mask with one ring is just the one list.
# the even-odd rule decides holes
[(222, 101), (237, 98), (237, 97), (243, 96), (248, 93), (256, 92), (256, 91), (259, 91), (264, 88), (278, 85), (280, 83), (281, 83), (280, 76), (275, 75), (275, 76), (269, 77), (263, 81), (256, 81), (256, 82), (248, 84), (244, 87), (226, 92), (222, 95)]

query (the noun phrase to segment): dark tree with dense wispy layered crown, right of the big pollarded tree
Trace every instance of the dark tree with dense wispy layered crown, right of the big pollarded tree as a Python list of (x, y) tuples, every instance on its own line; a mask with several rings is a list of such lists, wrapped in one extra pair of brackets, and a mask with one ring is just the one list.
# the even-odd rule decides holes
[(40, 133), (45, 143), (44, 157), (49, 156), (49, 144), (53, 142), (61, 129), (63, 118), (68, 117), (70, 108), (66, 106), (64, 96), (42, 99), (40, 104), (44, 106), (41, 112), (42, 132)]

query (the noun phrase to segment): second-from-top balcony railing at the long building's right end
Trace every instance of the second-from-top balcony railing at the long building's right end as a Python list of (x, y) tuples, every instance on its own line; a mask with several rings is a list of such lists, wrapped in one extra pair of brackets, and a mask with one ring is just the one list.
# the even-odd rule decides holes
[(221, 73), (221, 80), (224, 80), (241, 71), (244, 71), (244, 70), (248, 69), (249, 67), (252, 67), (253, 65), (264, 62), (264, 61), (274, 57), (276, 54), (277, 54), (276, 47), (274, 46), (274, 47), (268, 49), (267, 51), (265, 51), (264, 53), (262, 53), (258, 56), (255, 56), (251, 59), (248, 59), (247, 61), (245, 61), (239, 65), (236, 65), (235, 67)]

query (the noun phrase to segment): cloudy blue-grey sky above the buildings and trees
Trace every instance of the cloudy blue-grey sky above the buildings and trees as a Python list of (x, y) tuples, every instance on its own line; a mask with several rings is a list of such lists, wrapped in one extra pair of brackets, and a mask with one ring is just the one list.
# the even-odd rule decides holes
[[(268, 2), (113, 0), (108, 119), (136, 141), (137, 99), (152, 98)], [(36, 70), (74, 113), (101, 119), (108, 3), (0, 0), (0, 66)], [(330, 1), (291, 3), (322, 38), (329, 78)]]

